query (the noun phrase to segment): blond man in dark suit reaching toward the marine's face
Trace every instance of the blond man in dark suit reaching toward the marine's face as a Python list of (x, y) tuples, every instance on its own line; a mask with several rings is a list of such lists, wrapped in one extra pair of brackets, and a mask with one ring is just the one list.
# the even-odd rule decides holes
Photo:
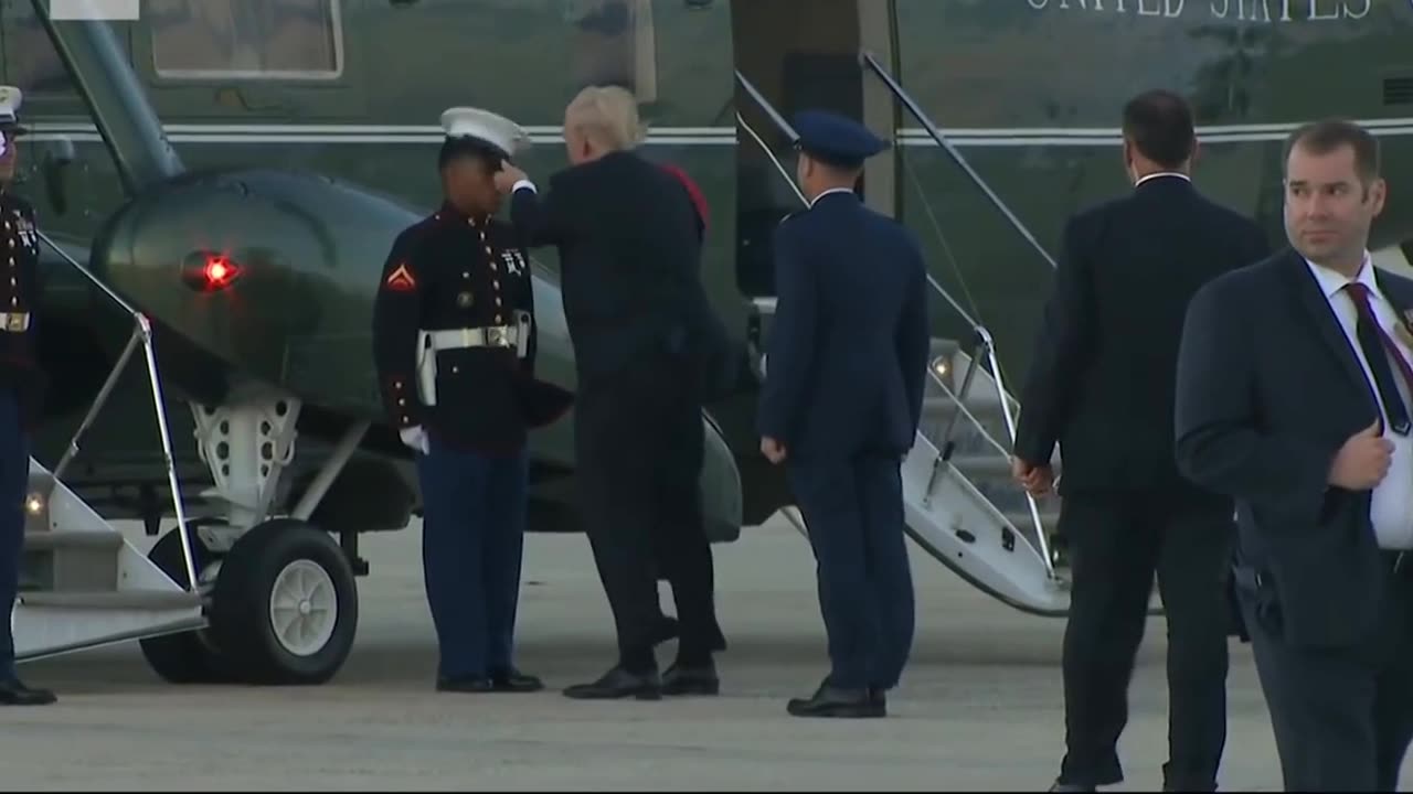
[[(548, 195), (509, 164), (497, 185), (513, 191), (512, 218), (527, 243), (560, 250), (582, 514), (617, 624), (617, 664), (565, 695), (716, 694), (712, 653), (726, 643), (698, 480), (709, 391), (702, 362), (722, 340), (698, 280), (697, 211), (677, 177), (632, 151), (642, 133), (626, 90), (581, 92), (564, 134), (571, 167), (550, 179)], [(670, 629), (654, 559), (680, 622), (677, 661), (661, 677), (653, 646)]]

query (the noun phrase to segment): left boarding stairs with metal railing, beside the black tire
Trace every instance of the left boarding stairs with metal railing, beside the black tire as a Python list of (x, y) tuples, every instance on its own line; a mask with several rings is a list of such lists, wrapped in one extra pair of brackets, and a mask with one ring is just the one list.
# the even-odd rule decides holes
[(21, 661), (188, 632), (203, 627), (206, 622), (187, 531), (179, 533), (181, 564), (188, 582), (184, 588), (62, 482), (64, 472), (79, 452), (81, 439), (141, 346), (177, 526), (187, 528), (151, 324), (52, 239), (44, 233), (38, 236), (59, 259), (127, 311), (134, 329), (54, 470), (30, 459), (21, 586), (13, 613), (16, 657)]

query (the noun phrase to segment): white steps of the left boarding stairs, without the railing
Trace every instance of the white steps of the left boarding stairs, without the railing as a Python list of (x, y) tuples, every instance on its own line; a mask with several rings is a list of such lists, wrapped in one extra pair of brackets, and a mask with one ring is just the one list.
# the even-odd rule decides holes
[(11, 615), (18, 660), (205, 624), (199, 593), (182, 589), (30, 459), (20, 595)]

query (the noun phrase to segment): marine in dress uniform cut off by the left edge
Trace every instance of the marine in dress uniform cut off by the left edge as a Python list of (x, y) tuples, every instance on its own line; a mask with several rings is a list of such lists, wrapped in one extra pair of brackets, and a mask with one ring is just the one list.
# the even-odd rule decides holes
[(24, 497), (30, 482), (28, 428), (38, 418), (42, 373), (34, 348), (40, 294), (40, 237), (34, 209), (10, 192), (18, 164), (20, 89), (0, 86), (0, 705), (44, 705), (52, 692), (30, 689), (14, 668), (11, 610), (24, 550)]

